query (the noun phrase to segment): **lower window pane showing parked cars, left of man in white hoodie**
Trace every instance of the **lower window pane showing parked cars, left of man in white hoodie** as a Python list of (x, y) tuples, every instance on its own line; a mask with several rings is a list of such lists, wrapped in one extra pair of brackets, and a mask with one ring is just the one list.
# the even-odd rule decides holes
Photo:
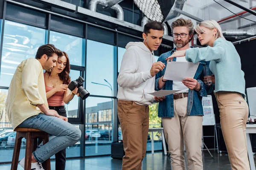
[(85, 156), (111, 154), (113, 99), (86, 99)]

